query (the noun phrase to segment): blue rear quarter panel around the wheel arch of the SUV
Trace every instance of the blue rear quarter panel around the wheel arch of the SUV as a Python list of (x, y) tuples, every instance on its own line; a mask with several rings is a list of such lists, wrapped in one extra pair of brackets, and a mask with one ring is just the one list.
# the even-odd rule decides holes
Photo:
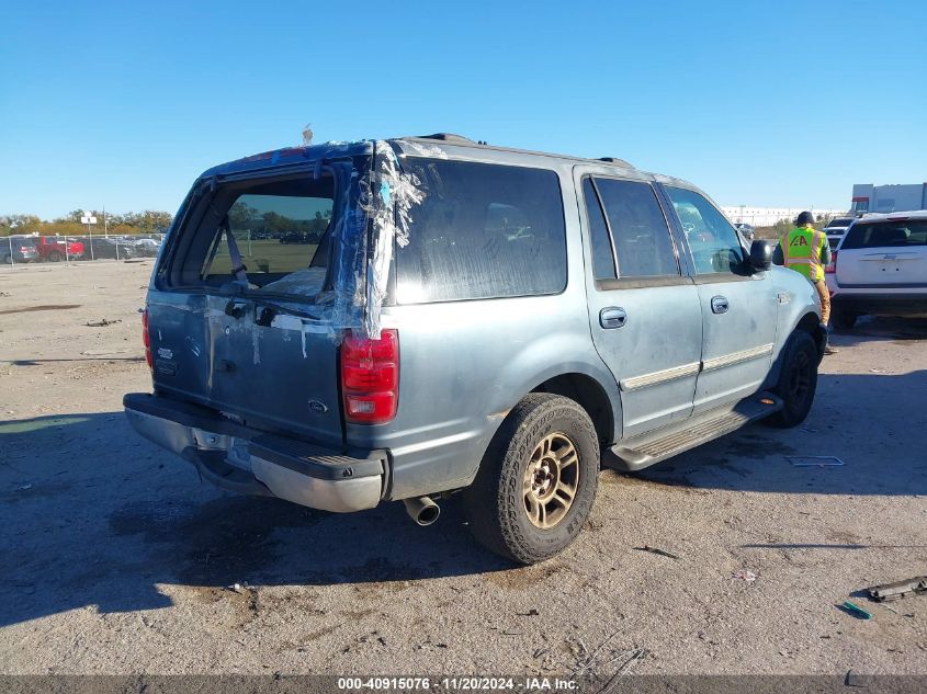
[(382, 426), (349, 424), (347, 440), (391, 450), (391, 499), (467, 486), (509, 410), (553, 376), (591, 376), (621, 420), (617, 385), (591, 342), (570, 170), (557, 172), (567, 234), (562, 294), (384, 309), (384, 328), (399, 331), (398, 412)]

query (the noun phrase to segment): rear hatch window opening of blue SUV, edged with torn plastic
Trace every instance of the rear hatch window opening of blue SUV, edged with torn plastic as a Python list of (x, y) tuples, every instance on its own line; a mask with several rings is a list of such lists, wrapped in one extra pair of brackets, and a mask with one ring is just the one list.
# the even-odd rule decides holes
[[(334, 281), (329, 258), (338, 258), (339, 234), (355, 236), (342, 223), (360, 180), (352, 173), (366, 169), (365, 159), (344, 160), (327, 163), (317, 174), (282, 172), (219, 181), (215, 187), (202, 182), (161, 253), (158, 281), (178, 288), (222, 288), (234, 282), (239, 292), (318, 296)], [(236, 255), (244, 273), (236, 272)], [(338, 272), (358, 275), (350, 259), (341, 260), (346, 266)]]

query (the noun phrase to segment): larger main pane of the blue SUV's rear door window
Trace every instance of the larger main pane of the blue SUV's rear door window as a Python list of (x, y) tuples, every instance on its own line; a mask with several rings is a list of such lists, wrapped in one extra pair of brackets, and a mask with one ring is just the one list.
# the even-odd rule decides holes
[(679, 274), (669, 228), (649, 183), (596, 179), (606, 208), (619, 277)]

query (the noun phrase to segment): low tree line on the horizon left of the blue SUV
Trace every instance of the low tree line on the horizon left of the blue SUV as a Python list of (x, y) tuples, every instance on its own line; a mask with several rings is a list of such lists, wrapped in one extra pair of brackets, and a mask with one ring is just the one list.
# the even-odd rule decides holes
[[(173, 215), (169, 212), (145, 209), (129, 212), (123, 215), (106, 213), (105, 225), (103, 213), (88, 211), (89, 216), (97, 217), (93, 234), (163, 234), (170, 227)], [(0, 236), (38, 234), (39, 236), (81, 236), (87, 234), (87, 225), (80, 223), (83, 211), (75, 209), (64, 217), (42, 219), (36, 215), (0, 215)]]

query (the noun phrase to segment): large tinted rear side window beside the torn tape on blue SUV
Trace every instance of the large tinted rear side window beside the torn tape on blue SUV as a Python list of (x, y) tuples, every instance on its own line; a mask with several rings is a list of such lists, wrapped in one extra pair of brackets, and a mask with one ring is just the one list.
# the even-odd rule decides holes
[(399, 304), (556, 294), (566, 287), (566, 231), (556, 173), (406, 159), (425, 192), (409, 242), (396, 249)]

